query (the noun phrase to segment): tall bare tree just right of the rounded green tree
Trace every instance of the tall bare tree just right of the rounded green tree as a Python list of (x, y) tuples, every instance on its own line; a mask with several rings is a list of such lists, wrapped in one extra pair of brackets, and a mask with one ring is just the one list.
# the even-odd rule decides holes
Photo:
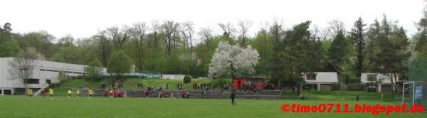
[(145, 34), (147, 31), (147, 25), (145, 23), (135, 23), (133, 24), (132, 28), (130, 28), (130, 36), (132, 37), (132, 40), (135, 41), (135, 46), (137, 48), (137, 55), (138, 58), (138, 68), (142, 68), (142, 56), (144, 55), (144, 39)]

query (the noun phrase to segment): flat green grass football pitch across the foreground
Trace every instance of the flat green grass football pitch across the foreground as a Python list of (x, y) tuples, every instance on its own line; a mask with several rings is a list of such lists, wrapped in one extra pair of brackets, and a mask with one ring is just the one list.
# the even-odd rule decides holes
[[(95, 97), (33, 97), (0, 96), (0, 117), (386, 117), (369, 113), (283, 113), (284, 103), (320, 104), (331, 101), (295, 100), (181, 100), (142, 98)], [(334, 101), (333, 103), (349, 103)], [(389, 102), (366, 102), (367, 104), (391, 104)], [(426, 114), (394, 113), (387, 117), (427, 117)]]

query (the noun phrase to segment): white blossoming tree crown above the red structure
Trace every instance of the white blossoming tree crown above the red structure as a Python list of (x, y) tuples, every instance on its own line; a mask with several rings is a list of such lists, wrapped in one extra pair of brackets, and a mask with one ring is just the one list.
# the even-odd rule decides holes
[(209, 64), (209, 76), (231, 75), (234, 79), (238, 73), (251, 75), (255, 73), (254, 68), (258, 60), (258, 51), (251, 45), (241, 48), (238, 45), (220, 42)]

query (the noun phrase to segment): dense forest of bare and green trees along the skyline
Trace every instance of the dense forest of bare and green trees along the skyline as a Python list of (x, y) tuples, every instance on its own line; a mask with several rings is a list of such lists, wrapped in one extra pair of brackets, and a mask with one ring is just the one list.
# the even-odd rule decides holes
[[(254, 24), (251, 20), (218, 23), (222, 34), (213, 34), (211, 28), (196, 30), (191, 21), (153, 21), (112, 26), (88, 38), (57, 38), (48, 31), (14, 33), (13, 24), (5, 23), (0, 29), (0, 57), (13, 57), (23, 48), (34, 47), (46, 60), (88, 65), (99, 59), (107, 67), (110, 55), (124, 50), (137, 72), (206, 77), (216, 46), (225, 41), (258, 50), (254, 75), (273, 80), (292, 79), (298, 76), (292, 73), (315, 72), (329, 63), (346, 82), (364, 72), (400, 73), (406, 78), (409, 63), (427, 57), (426, 18), (424, 12), (413, 36), (407, 36), (405, 28), (386, 15), (371, 24), (363, 18), (354, 19), (354, 24), (332, 20), (325, 28), (310, 21), (285, 28), (280, 18), (273, 18), (255, 36), (248, 35)], [(288, 83), (292, 82), (297, 81)]]

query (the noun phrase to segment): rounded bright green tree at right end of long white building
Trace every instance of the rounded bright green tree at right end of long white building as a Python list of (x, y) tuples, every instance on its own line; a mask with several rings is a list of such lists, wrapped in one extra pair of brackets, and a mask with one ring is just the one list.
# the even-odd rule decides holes
[(125, 51), (117, 50), (112, 53), (108, 60), (107, 73), (122, 76), (124, 73), (130, 73), (132, 68), (132, 59), (126, 55)]

